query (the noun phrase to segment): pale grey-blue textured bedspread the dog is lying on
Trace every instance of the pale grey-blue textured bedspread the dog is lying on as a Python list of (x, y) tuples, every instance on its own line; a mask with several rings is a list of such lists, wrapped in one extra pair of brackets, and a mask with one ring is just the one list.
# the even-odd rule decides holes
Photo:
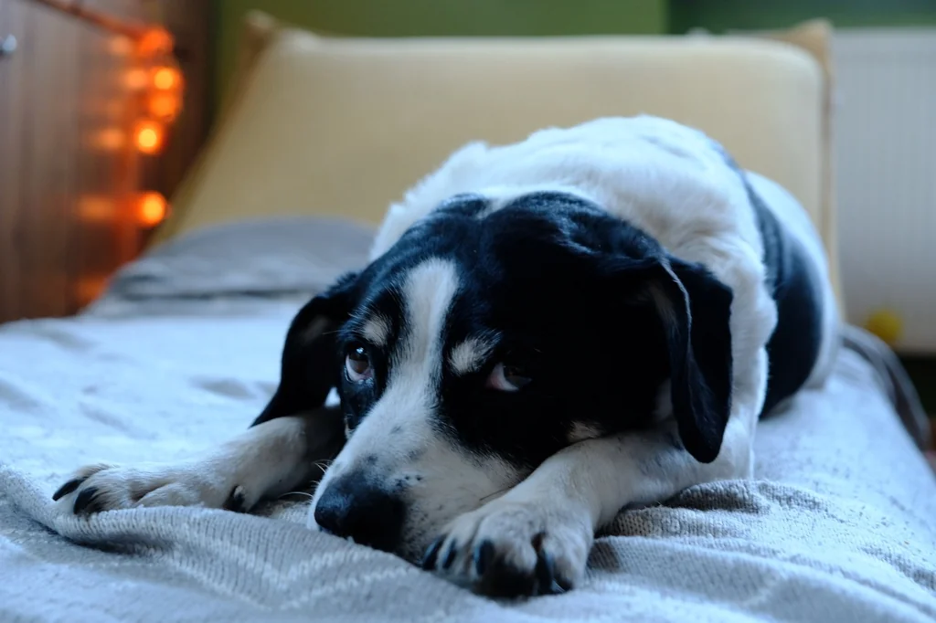
[(305, 529), (300, 496), (265, 516), (58, 513), (51, 492), (82, 464), (176, 460), (246, 427), (301, 297), (368, 239), (212, 230), (127, 268), (77, 319), (0, 327), (0, 622), (936, 620), (936, 482), (867, 341), (762, 423), (757, 480), (622, 514), (563, 596), (476, 597)]

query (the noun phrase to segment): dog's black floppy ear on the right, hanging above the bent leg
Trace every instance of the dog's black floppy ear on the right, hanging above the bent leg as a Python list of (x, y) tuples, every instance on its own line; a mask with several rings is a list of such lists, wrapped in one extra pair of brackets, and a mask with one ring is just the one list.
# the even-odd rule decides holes
[(666, 332), (670, 399), (683, 447), (710, 463), (731, 413), (731, 289), (698, 264), (661, 260), (650, 284)]

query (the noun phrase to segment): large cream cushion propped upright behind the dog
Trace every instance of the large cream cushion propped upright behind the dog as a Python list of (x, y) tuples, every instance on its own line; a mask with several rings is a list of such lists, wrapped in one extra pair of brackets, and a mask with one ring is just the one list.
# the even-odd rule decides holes
[(808, 45), (752, 36), (336, 38), (270, 24), (245, 37), (236, 92), (157, 240), (272, 215), (375, 224), (465, 142), (645, 112), (707, 132), (742, 167), (782, 184), (835, 263), (827, 71), (809, 51), (817, 40), (823, 47), (824, 24), (789, 37)]

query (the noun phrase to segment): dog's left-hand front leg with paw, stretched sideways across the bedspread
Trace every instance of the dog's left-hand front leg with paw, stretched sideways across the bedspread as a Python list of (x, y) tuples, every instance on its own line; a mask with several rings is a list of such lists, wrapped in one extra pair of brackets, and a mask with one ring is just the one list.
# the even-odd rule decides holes
[(278, 417), (183, 463), (91, 465), (52, 496), (74, 514), (138, 506), (201, 506), (246, 512), (314, 479), (317, 461), (344, 444), (338, 409)]

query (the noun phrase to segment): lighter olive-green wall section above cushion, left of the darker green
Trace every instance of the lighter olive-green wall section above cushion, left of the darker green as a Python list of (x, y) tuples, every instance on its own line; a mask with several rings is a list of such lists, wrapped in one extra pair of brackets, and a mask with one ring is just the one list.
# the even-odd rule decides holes
[(214, 101), (234, 66), (252, 8), (287, 22), (357, 36), (537, 36), (665, 33), (667, 0), (213, 0)]

